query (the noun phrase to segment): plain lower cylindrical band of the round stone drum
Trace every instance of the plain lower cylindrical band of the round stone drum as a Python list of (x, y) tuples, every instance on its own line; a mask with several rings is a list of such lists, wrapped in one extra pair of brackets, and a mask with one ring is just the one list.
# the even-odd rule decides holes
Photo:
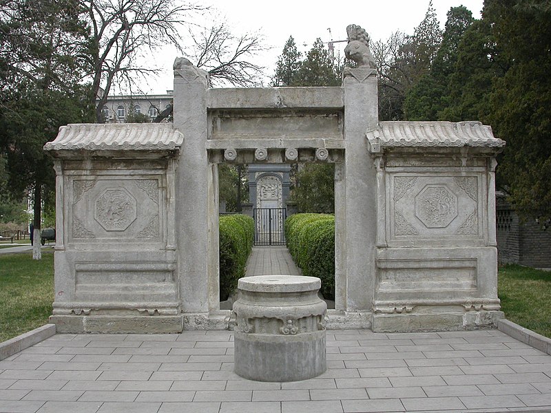
[(235, 332), (235, 372), (256, 381), (300, 381), (325, 372), (325, 330), (293, 336)]

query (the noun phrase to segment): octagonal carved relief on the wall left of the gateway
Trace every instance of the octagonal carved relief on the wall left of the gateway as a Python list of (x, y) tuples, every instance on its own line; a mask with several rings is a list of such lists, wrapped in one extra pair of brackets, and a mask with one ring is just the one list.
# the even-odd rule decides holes
[(95, 202), (94, 218), (105, 231), (125, 231), (136, 220), (137, 203), (124, 188), (105, 189)]

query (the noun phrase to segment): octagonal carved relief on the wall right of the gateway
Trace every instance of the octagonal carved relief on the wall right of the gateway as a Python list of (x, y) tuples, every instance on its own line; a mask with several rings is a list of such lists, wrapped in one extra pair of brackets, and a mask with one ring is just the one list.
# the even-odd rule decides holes
[(427, 228), (445, 228), (457, 217), (457, 196), (446, 185), (427, 185), (415, 197), (415, 216)]

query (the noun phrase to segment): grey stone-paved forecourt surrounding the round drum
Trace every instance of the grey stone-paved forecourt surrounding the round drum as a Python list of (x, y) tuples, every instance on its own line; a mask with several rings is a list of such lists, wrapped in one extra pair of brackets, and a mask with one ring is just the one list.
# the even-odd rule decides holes
[(264, 383), (232, 371), (229, 331), (58, 334), (0, 361), (0, 412), (551, 411), (551, 356), (498, 330), (328, 330), (327, 342), (320, 377)]

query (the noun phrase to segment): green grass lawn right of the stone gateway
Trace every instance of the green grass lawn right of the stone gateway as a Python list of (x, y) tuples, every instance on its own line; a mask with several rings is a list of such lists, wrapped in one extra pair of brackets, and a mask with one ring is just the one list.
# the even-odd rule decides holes
[(497, 290), (506, 319), (551, 338), (550, 271), (501, 266)]

